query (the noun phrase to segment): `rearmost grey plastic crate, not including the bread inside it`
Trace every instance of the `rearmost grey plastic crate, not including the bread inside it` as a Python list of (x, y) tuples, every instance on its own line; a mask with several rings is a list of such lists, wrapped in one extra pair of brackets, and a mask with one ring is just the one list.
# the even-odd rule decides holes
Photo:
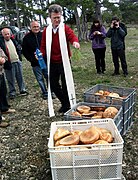
[[(99, 90), (109, 91), (118, 93), (121, 98), (113, 98), (109, 96), (100, 96), (95, 93)], [(89, 103), (107, 103), (112, 105), (122, 105), (123, 108), (123, 132), (122, 135), (125, 135), (126, 132), (133, 124), (134, 116), (134, 106), (136, 99), (136, 89), (135, 88), (124, 88), (116, 87), (104, 84), (97, 84), (90, 89), (84, 92), (84, 101)]]

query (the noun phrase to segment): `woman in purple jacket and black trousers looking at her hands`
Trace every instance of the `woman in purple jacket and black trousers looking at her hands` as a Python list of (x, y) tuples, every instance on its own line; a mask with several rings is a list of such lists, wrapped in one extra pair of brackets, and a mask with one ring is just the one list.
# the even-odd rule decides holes
[(105, 71), (105, 51), (106, 51), (106, 30), (98, 19), (93, 21), (90, 29), (89, 39), (92, 40), (92, 50), (95, 55), (97, 73)]

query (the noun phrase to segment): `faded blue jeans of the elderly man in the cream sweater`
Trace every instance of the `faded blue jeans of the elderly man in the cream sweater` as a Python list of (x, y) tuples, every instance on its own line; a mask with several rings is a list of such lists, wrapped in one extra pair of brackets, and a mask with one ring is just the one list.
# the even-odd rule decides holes
[(6, 79), (8, 81), (9, 95), (16, 95), (15, 80), (17, 81), (19, 91), (26, 91), (22, 73), (22, 62), (12, 63), (11, 70), (5, 70)]

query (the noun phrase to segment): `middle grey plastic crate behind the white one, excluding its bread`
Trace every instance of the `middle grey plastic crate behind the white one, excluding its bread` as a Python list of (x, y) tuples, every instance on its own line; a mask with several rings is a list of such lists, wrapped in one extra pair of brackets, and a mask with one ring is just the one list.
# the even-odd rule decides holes
[[(67, 111), (66, 113), (64, 113), (64, 119), (65, 121), (72, 121), (72, 120), (82, 120), (82, 119), (90, 119), (90, 117), (79, 117), (79, 116), (73, 116), (71, 113), (77, 110), (78, 106), (81, 105), (86, 105), (89, 107), (93, 107), (93, 106), (105, 106), (110, 107), (111, 105), (109, 104), (102, 104), (102, 103), (88, 103), (88, 102), (79, 102), (78, 104), (74, 105), (69, 111)], [(114, 117), (114, 122), (117, 126), (117, 129), (119, 130), (120, 134), (123, 134), (123, 110), (122, 110), (122, 106), (121, 105), (112, 105), (113, 107), (118, 109), (118, 113), (116, 114), (116, 116)]]

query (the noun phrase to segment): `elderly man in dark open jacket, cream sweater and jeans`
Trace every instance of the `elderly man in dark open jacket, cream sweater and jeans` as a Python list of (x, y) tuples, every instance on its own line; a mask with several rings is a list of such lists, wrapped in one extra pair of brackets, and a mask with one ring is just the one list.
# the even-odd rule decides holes
[(15, 79), (19, 87), (20, 95), (27, 95), (22, 74), (22, 62), (20, 61), (20, 50), (15, 39), (12, 39), (10, 29), (2, 29), (2, 36), (0, 39), (0, 46), (11, 62), (11, 68), (6, 69), (5, 74), (9, 86), (9, 98), (14, 99), (16, 96)]

